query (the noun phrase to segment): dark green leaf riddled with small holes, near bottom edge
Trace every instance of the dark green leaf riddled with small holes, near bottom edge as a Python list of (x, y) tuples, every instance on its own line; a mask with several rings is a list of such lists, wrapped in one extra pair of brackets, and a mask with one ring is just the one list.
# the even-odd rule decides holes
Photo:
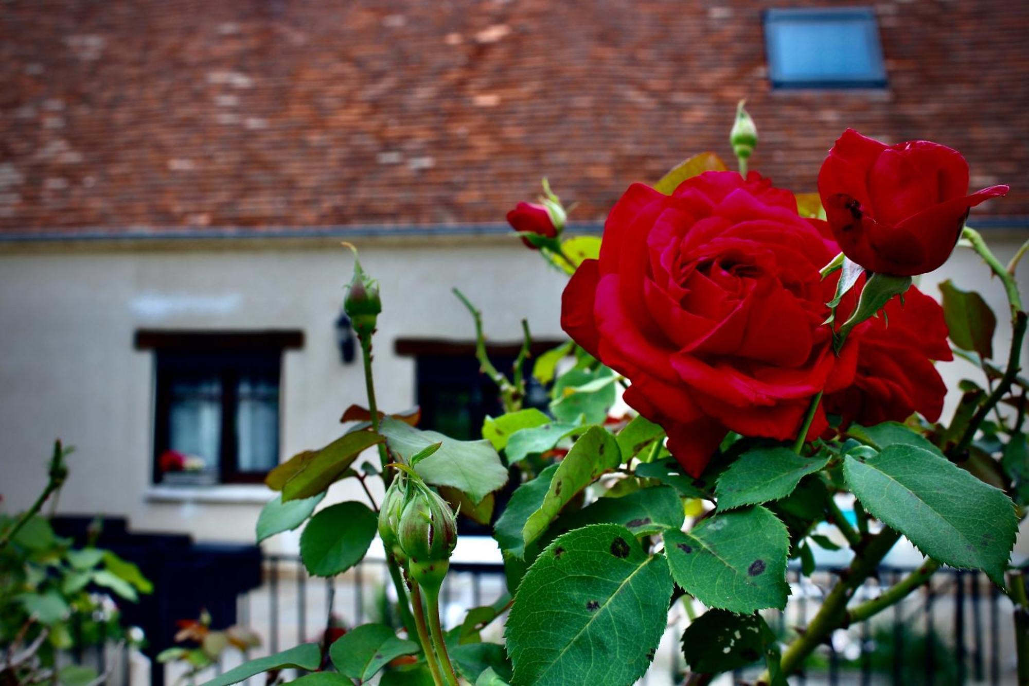
[(775, 633), (760, 615), (708, 610), (682, 633), (682, 654), (689, 668), (700, 673), (740, 670), (761, 659), (770, 648), (778, 654)]

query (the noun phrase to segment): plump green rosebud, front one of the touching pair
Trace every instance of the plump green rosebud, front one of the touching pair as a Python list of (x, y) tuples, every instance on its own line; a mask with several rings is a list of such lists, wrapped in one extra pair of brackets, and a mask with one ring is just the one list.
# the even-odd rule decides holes
[(457, 545), (457, 518), (447, 501), (415, 484), (397, 527), (407, 569), (420, 586), (438, 588)]

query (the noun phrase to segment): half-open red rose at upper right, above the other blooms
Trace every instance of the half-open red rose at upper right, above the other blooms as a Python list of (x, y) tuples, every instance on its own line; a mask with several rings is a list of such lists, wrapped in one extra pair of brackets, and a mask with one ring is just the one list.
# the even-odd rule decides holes
[(818, 172), (818, 194), (844, 254), (874, 272), (915, 276), (950, 256), (968, 209), (1007, 194), (968, 193), (957, 150), (916, 140), (886, 145), (847, 129)]

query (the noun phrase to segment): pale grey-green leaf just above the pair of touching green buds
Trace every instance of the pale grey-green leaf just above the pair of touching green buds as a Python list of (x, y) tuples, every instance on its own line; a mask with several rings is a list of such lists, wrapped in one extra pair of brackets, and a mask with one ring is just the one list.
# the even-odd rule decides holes
[(475, 504), (507, 483), (507, 469), (489, 441), (458, 441), (436, 432), (423, 432), (392, 417), (379, 424), (389, 447), (405, 459), (433, 443), (442, 443), (432, 455), (415, 466), (415, 471), (434, 486), (453, 486), (468, 494)]

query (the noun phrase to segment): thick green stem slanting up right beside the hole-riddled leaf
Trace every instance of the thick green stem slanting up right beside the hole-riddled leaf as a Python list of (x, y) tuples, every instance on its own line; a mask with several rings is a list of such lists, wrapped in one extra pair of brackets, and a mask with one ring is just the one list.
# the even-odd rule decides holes
[[(864, 583), (868, 575), (876, 571), (879, 562), (897, 542), (900, 535), (885, 527), (876, 535), (868, 545), (855, 554), (850, 567), (841, 575), (829, 594), (825, 596), (818, 614), (814, 616), (807, 628), (793, 643), (789, 644), (782, 655), (782, 674), (788, 676), (796, 671), (804, 660), (817, 648), (833, 629), (844, 626), (847, 621), (847, 603), (854, 590)], [(770, 683), (770, 675), (766, 672), (757, 683)]]

